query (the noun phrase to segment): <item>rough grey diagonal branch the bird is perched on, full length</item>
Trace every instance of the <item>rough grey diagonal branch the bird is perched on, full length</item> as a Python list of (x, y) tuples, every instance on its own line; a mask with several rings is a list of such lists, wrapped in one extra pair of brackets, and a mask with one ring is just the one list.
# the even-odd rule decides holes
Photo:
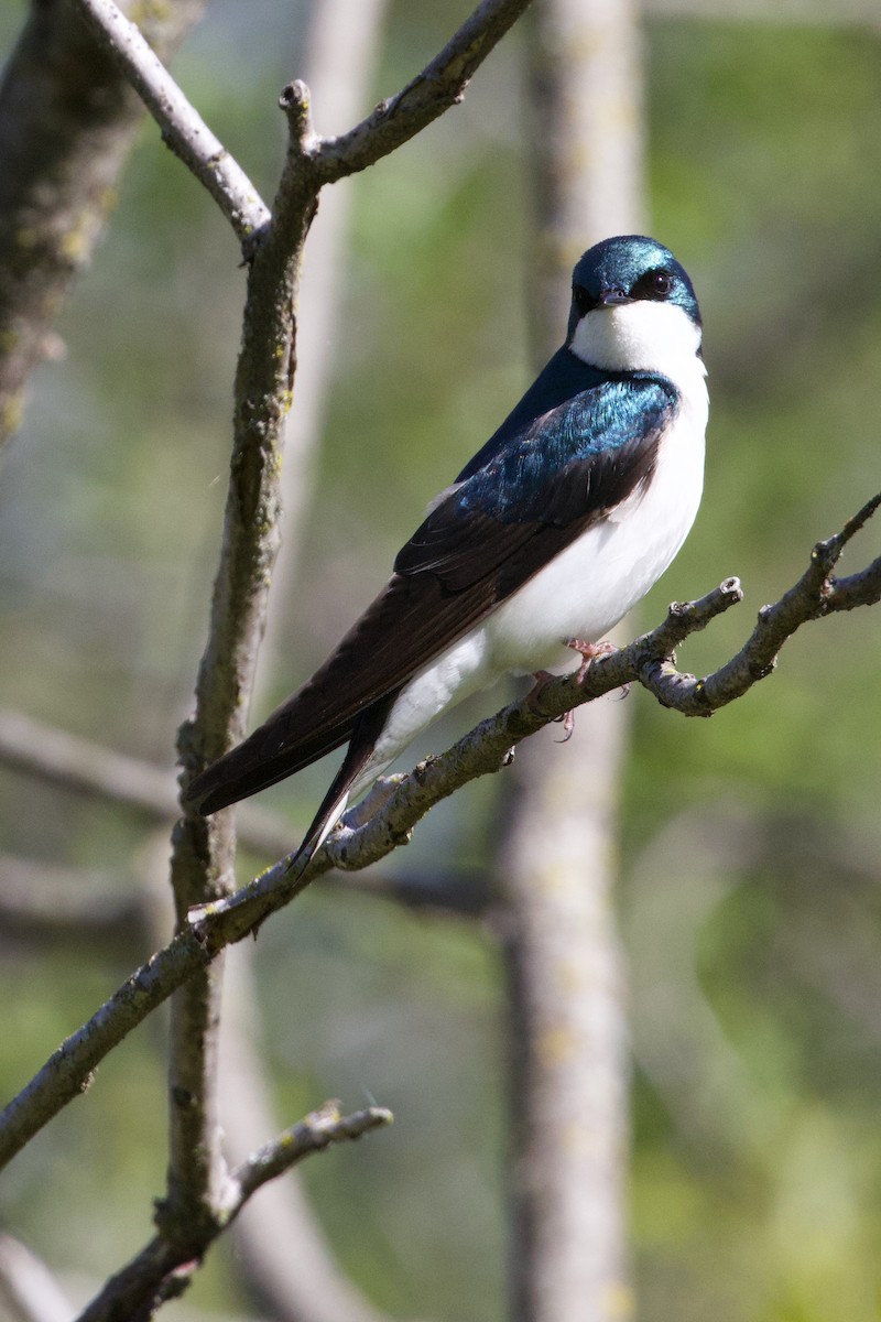
[[(789, 600), (787, 637), (808, 620), (881, 600), (881, 557), (851, 578), (835, 579), (831, 575), (847, 541), (880, 504), (881, 496), (874, 497), (841, 533), (818, 543), (811, 568), (781, 599)], [(820, 579), (815, 571), (818, 558), (827, 566), (827, 574)], [(855, 602), (849, 588), (853, 578), (861, 584), (859, 602)], [(841, 598), (837, 596), (839, 584), (843, 586)], [(793, 602), (793, 594), (798, 605)], [(597, 657), (584, 676), (549, 681), (531, 699), (514, 702), (495, 717), (481, 722), (448, 752), (427, 758), (408, 775), (391, 776), (375, 785), (361, 804), (346, 813), (342, 825), (329, 837), (304, 874), (293, 871), (292, 858), (288, 857), (235, 895), (194, 907), (188, 915), (186, 925), (173, 940), (136, 969), (92, 1018), (58, 1047), (0, 1114), (0, 1167), (88, 1087), (91, 1072), (118, 1042), (218, 951), (252, 933), (269, 914), (287, 904), (332, 866), (343, 870), (367, 867), (396, 846), (407, 843), (413, 826), (436, 802), (469, 780), (507, 765), (511, 750), (520, 740), (565, 711), (623, 685), (638, 682), (655, 693), (663, 705), (675, 707), (684, 715), (711, 715), (715, 710), (711, 698), (696, 698), (695, 694), (704, 690), (712, 694), (713, 676), (696, 680), (693, 676), (679, 674), (674, 665), (675, 649), (689, 635), (707, 628), (717, 615), (741, 600), (737, 579), (726, 579), (721, 587), (696, 602), (671, 605), (667, 619), (656, 629), (618, 652)], [(753, 637), (738, 652), (738, 657), (753, 654)], [(765, 640), (761, 641), (763, 646)], [(756, 656), (761, 656), (761, 649)], [(724, 669), (726, 668), (715, 673), (720, 674)], [(742, 691), (767, 676), (770, 669), (769, 661), (757, 661), (754, 666), (746, 664)], [(738, 695), (728, 689), (724, 694), (716, 694), (712, 701), (716, 706), (724, 706)]]

